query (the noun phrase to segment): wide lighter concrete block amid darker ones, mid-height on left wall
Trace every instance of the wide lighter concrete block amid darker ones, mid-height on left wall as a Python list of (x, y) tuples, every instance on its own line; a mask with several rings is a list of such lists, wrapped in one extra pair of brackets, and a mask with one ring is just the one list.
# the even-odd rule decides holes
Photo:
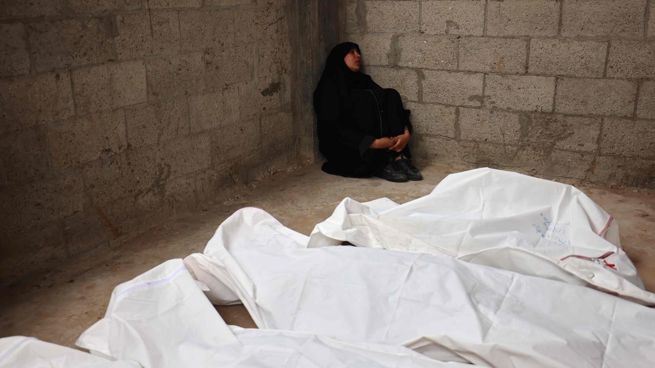
[(73, 91), (81, 115), (145, 102), (145, 65), (138, 60), (77, 69)]

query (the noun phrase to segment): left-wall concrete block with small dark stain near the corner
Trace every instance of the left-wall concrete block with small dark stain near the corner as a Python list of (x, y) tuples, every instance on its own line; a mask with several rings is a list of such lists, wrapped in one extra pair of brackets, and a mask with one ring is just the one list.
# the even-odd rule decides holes
[(282, 83), (279, 78), (266, 77), (238, 84), (238, 106), (242, 119), (280, 107)]

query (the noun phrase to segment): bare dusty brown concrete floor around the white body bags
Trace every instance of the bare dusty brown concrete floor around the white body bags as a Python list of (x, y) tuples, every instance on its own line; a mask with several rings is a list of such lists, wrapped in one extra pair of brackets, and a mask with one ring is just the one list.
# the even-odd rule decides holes
[[(327, 175), (320, 166), (279, 173), (246, 188), (221, 194), (198, 212), (170, 219), (114, 249), (100, 249), (68, 265), (34, 276), (0, 292), (0, 337), (34, 336), (73, 346), (77, 337), (102, 318), (115, 285), (159, 263), (202, 252), (218, 225), (245, 206), (261, 207), (293, 230), (309, 234), (345, 197), (367, 201), (386, 196), (398, 203), (430, 193), (443, 177), (462, 168), (430, 164), (424, 180), (390, 183)], [(655, 291), (655, 192), (582, 187), (618, 221), (621, 241), (646, 289)], [(217, 308), (227, 323), (254, 327), (242, 306)]]

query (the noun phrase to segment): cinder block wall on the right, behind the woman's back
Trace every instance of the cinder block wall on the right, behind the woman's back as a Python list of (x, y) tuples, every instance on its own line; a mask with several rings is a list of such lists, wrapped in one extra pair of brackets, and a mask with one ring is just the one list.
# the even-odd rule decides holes
[(655, 187), (655, 0), (347, 0), (417, 155)]

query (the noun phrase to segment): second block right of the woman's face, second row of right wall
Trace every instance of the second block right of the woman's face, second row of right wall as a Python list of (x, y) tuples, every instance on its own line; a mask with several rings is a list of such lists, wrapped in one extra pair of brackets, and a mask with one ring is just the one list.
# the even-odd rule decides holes
[(463, 37), (459, 41), (459, 70), (525, 73), (527, 41)]

